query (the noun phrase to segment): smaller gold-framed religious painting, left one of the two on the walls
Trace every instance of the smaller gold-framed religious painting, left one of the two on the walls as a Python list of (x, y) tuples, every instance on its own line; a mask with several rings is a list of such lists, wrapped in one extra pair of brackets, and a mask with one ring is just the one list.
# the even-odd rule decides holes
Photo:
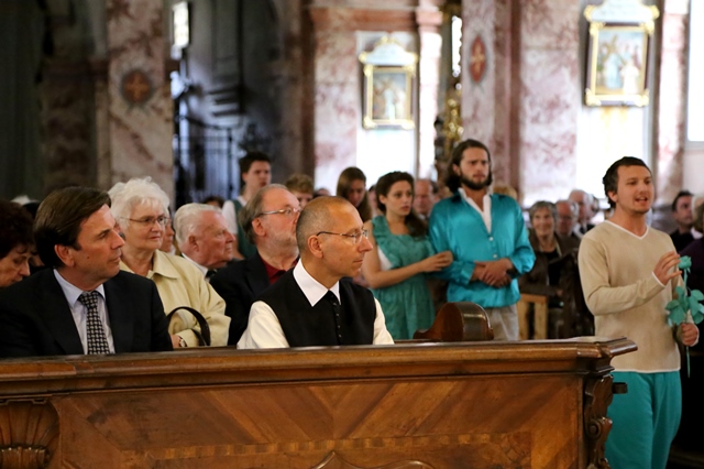
[(413, 80), (415, 65), (365, 65), (365, 129), (397, 127), (413, 129)]

